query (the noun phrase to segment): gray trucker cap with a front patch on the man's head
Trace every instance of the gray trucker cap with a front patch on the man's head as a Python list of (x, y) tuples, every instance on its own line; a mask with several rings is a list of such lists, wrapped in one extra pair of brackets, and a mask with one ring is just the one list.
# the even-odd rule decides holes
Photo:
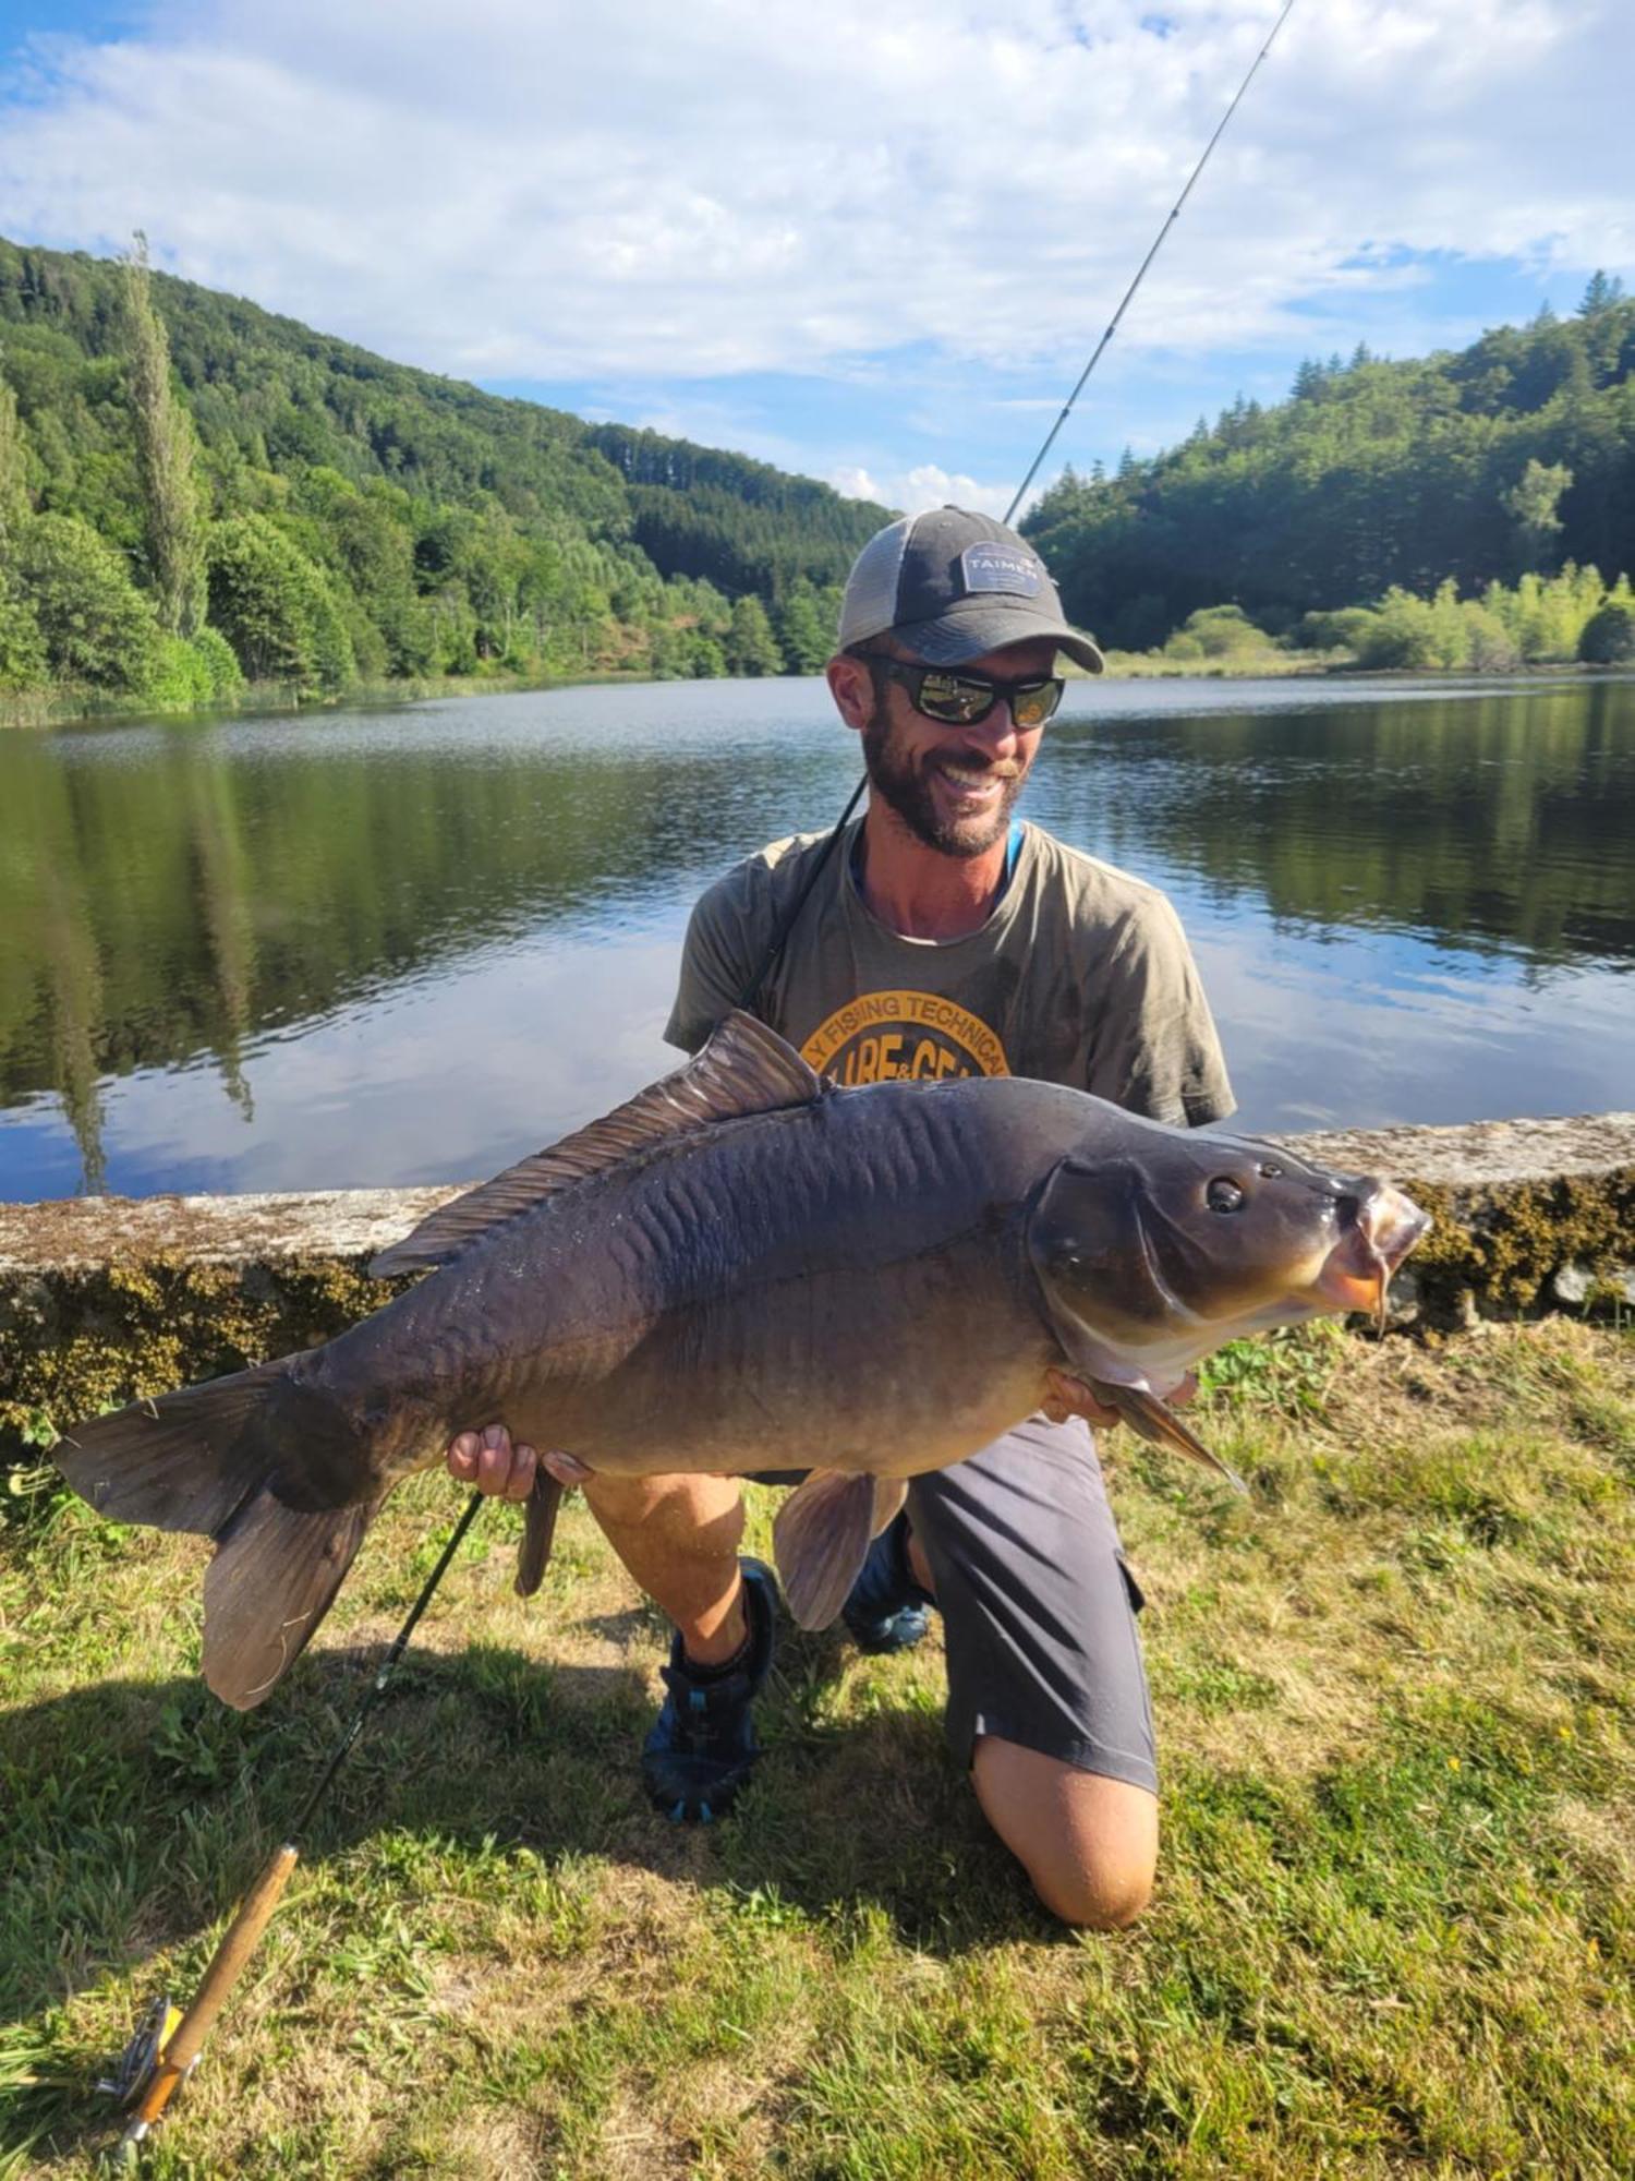
[(933, 667), (961, 667), (1029, 637), (1053, 639), (1092, 674), (1103, 665), (1090, 637), (1068, 628), (1027, 539), (968, 508), (903, 515), (859, 552), (839, 606), (839, 648), (887, 632)]

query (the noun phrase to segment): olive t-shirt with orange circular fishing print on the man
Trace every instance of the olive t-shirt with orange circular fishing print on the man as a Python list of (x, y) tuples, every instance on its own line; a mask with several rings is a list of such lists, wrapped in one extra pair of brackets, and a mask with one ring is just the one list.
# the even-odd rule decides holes
[[(1020, 829), (977, 931), (909, 940), (852, 877), (861, 820), (804, 901), (754, 1012), (839, 1084), (1033, 1075), (1153, 1121), (1232, 1112), (1221, 1043), (1179, 918), (1155, 885)], [(774, 842), (693, 909), (665, 1038), (693, 1053), (743, 995), (824, 833)]]

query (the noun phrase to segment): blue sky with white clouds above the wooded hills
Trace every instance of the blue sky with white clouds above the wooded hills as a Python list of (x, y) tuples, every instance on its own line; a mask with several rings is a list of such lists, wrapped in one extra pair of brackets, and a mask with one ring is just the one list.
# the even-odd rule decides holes
[[(1277, 0), (0, 0), (0, 233), (1003, 506)], [(1299, 0), (1057, 458), (1635, 284), (1628, 0)], [(1046, 471), (1049, 475), (1049, 471)]]

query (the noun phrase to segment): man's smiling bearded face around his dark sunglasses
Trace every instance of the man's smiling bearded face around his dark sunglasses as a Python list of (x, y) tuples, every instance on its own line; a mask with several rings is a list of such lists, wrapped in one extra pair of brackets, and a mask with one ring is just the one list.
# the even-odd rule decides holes
[[(894, 656), (918, 665), (907, 650), (894, 648)], [(1053, 670), (1055, 646), (1036, 641), (983, 652), (955, 672), (1022, 680)], [(900, 683), (881, 676), (863, 720), (863, 763), (874, 792), (916, 840), (942, 855), (972, 857), (1005, 838), (1042, 733), (1042, 726), (1018, 731), (1003, 702), (977, 726), (944, 726), (916, 711)]]

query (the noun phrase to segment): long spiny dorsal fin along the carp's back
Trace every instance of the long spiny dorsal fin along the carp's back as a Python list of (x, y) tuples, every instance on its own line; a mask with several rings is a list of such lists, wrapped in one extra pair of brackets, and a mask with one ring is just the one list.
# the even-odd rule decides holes
[(737, 1121), (780, 1106), (811, 1106), (826, 1084), (807, 1067), (794, 1045), (732, 1010), (708, 1040), (674, 1075), (665, 1075), (628, 1104), (532, 1158), (506, 1167), (493, 1182), (467, 1191), (423, 1219), (403, 1241), (382, 1250), (371, 1263), (373, 1278), (447, 1265), (469, 1243), (506, 1219), (532, 1210), (543, 1197), (621, 1167), (669, 1136), (689, 1136), (715, 1121)]

